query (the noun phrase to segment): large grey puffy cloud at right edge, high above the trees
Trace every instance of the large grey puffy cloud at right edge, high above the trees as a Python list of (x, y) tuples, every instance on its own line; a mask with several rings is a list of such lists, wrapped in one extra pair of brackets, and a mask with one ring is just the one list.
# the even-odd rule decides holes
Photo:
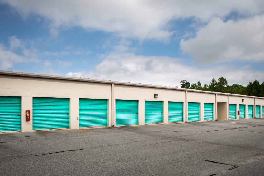
[(264, 61), (264, 16), (223, 22), (214, 18), (195, 38), (180, 42), (196, 63), (232, 60)]

